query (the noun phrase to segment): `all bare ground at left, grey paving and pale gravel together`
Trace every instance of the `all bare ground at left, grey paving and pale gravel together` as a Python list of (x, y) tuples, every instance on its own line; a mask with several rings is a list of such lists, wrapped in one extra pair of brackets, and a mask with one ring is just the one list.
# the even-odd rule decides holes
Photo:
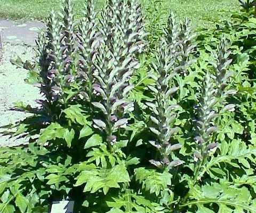
[[(43, 27), (43, 23), (38, 21), (14, 23), (0, 20), (0, 34), (3, 38), (3, 60), (0, 63), (0, 127), (13, 124), (29, 115), (25, 112), (10, 110), (14, 106), (13, 103), (22, 101), (35, 106), (35, 100), (40, 97), (38, 89), (24, 81), (27, 70), (17, 68), (10, 62), (17, 56), (22, 61), (35, 57), (33, 46), (35, 46), (38, 27)], [(2, 130), (0, 128), (0, 132)], [(26, 143), (26, 141), (8, 138), (0, 134), (0, 146), (13, 146), (21, 143)]]

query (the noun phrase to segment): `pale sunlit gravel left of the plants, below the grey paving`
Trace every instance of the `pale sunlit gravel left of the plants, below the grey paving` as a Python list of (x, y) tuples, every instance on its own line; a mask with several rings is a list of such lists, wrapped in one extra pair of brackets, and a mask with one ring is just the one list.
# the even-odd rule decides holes
[[(3, 62), (0, 64), (0, 126), (15, 123), (28, 116), (25, 112), (10, 111), (14, 102), (22, 101), (35, 106), (35, 100), (40, 97), (38, 89), (24, 81), (27, 70), (11, 64), (10, 60), (17, 56), (22, 61), (31, 60), (34, 56), (33, 48), (4, 43)], [(24, 141), (8, 139), (7, 136), (0, 135), (0, 146), (13, 146), (20, 143)]]

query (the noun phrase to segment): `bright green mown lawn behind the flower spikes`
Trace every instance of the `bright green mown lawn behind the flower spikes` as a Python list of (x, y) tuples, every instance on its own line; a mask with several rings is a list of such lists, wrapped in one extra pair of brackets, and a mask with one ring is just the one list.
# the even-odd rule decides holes
[[(60, 2), (61, 0), (1, 0), (0, 17), (14, 20), (45, 20), (52, 9), (59, 8)], [(74, 2), (75, 11), (79, 14), (81, 4), (85, 1)], [(104, 0), (98, 0), (98, 6), (103, 2)], [(163, 5), (173, 10), (179, 18), (188, 17), (196, 27), (207, 27), (214, 21), (226, 20), (231, 11), (239, 10), (239, 3), (236, 0), (163, 0)]]

